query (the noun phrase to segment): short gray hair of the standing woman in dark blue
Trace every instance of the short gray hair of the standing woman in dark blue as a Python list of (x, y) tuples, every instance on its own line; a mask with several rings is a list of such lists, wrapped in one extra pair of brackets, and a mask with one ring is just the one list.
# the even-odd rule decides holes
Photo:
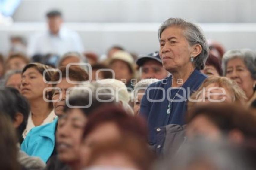
[(189, 45), (200, 44), (202, 47), (201, 53), (195, 57), (195, 68), (201, 70), (204, 68), (205, 62), (209, 55), (209, 46), (207, 44), (206, 38), (201, 31), (201, 29), (193, 23), (185, 21), (181, 18), (169, 18), (164, 21), (160, 28), (158, 29), (158, 40), (160, 41), (160, 36), (162, 32), (168, 27), (178, 26), (181, 29), (184, 29), (184, 36), (189, 42)]

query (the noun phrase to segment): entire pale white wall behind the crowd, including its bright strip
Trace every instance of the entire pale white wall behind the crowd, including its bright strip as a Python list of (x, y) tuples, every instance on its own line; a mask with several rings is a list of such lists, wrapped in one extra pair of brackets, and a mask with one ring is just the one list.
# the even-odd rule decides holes
[(256, 50), (255, 7), (256, 0), (23, 0), (14, 24), (0, 26), (0, 52), (7, 53), (10, 35), (28, 38), (45, 30), (45, 12), (52, 8), (63, 11), (86, 50), (100, 55), (114, 44), (138, 54), (158, 50), (158, 27), (169, 17), (199, 23), (226, 49)]

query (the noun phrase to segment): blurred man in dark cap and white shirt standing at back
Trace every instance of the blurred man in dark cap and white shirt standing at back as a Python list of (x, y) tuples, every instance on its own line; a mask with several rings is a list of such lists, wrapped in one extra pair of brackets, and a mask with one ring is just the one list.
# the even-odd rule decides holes
[(63, 19), (60, 11), (49, 11), (46, 16), (48, 30), (30, 38), (27, 47), (28, 56), (48, 53), (62, 56), (68, 51), (84, 52), (84, 46), (78, 33), (62, 26)]

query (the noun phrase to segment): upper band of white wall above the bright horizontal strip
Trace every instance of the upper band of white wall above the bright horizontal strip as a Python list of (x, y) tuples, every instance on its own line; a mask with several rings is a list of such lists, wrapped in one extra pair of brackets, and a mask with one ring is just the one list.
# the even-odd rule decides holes
[(163, 22), (181, 17), (198, 23), (256, 22), (255, 0), (23, 0), (18, 22), (40, 22), (52, 8), (67, 22)]

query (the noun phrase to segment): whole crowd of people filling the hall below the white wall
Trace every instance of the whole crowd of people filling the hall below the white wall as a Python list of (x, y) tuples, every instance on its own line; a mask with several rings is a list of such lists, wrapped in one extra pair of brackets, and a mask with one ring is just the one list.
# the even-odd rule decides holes
[[(99, 57), (67, 34), (59, 11), (47, 19), (30, 53), (12, 37), (0, 55), (0, 169), (256, 168), (253, 50), (225, 52), (196, 24), (169, 18), (158, 51), (110, 44)], [(69, 36), (79, 42), (56, 49)]]

